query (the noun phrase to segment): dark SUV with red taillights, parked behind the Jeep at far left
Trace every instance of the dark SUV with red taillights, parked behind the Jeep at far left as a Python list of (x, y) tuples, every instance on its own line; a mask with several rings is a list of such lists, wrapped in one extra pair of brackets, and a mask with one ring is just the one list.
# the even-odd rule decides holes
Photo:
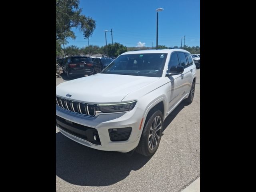
[(92, 74), (92, 62), (88, 57), (69, 56), (65, 58), (62, 70), (67, 74), (68, 78), (74, 75), (90, 75)]

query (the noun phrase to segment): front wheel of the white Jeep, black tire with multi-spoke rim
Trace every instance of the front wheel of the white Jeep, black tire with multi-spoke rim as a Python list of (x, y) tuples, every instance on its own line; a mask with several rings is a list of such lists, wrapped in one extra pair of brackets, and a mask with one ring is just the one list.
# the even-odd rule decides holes
[(136, 152), (144, 156), (154, 155), (162, 138), (163, 125), (163, 114), (160, 110), (156, 109), (146, 119)]

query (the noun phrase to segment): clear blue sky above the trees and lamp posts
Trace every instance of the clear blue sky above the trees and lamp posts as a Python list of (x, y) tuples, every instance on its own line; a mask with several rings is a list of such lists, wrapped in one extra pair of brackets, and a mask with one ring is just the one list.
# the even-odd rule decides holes
[[(164, 8), (158, 13), (158, 45), (180, 46), (186, 36), (186, 45), (200, 46), (200, 0), (80, 0), (80, 8), (96, 20), (89, 39), (92, 45), (104, 46), (104, 30), (112, 28), (113, 42), (127, 47), (151, 47), (153, 42), (156, 46), (156, 9)], [(68, 39), (68, 45), (88, 46), (82, 32), (72, 30), (76, 40)], [(110, 32), (107, 43), (111, 43)]]

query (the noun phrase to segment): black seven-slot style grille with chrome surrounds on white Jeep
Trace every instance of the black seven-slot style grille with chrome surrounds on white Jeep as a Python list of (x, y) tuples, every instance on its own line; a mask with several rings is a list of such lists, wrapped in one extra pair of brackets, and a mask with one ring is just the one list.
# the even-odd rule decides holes
[(95, 116), (94, 104), (87, 104), (82, 102), (76, 102), (56, 96), (56, 105), (64, 110), (74, 112), (76, 114), (82, 114), (85, 116)]

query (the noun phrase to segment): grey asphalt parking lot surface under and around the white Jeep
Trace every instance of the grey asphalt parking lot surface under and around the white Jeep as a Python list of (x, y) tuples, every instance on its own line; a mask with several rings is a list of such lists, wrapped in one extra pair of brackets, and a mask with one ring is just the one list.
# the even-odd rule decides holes
[[(56, 78), (56, 86), (66, 81)], [(180, 192), (200, 177), (200, 69), (192, 104), (166, 118), (151, 158), (88, 148), (56, 128), (56, 192)]]

